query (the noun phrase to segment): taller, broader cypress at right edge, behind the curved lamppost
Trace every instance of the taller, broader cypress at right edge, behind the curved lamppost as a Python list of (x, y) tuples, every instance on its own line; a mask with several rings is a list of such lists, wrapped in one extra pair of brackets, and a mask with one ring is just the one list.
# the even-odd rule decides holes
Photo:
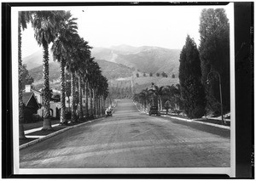
[[(220, 113), (218, 74), (221, 77), (224, 110), (230, 110), (230, 25), (224, 8), (207, 8), (200, 18), (202, 82), (207, 93), (207, 110)], [(217, 71), (217, 73), (211, 71)], [(209, 76), (208, 76), (209, 74)], [(207, 78), (209, 82), (207, 84)]]

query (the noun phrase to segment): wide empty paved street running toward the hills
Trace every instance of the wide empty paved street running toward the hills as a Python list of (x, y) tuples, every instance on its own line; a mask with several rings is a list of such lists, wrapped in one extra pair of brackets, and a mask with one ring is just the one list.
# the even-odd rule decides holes
[(113, 117), (20, 150), (20, 168), (230, 167), (230, 130), (137, 111), (120, 100)]

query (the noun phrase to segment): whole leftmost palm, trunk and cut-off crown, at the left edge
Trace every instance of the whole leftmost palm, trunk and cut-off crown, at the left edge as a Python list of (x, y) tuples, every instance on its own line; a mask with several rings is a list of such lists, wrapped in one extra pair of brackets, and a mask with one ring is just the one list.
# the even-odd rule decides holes
[(26, 29), (26, 24), (32, 20), (32, 12), (20, 11), (18, 17), (18, 61), (19, 61), (19, 138), (26, 139), (24, 133), (24, 112), (23, 112), (23, 99), (22, 99), (22, 59), (21, 59), (21, 28)]

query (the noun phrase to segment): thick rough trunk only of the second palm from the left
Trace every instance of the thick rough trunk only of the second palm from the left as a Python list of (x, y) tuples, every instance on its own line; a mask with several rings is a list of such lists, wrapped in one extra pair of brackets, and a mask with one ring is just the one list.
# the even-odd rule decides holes
[(49, 91), (49, 51), (48, 51), (48, 43), (46, 41), (43, 42), (44, 48), (44, 59), (43, 59), (43, 78), (44, 78), (44, 124), (43, 130), (51, 129), (50, 122), (50, 113), (49, 113), (49, 100), (50, 100), (50, 91)]

